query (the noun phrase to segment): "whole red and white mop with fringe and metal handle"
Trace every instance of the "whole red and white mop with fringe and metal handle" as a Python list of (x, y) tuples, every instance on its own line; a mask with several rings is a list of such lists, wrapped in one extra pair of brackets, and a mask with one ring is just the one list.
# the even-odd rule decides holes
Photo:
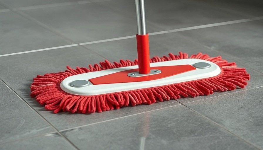
[(244, 88), (249, 80), (245, 68), (208, 54), (186, 53), (150, 58), (144, 0), (135, 0), (138, 59), (76, 67), (37, 75), (31, 97), (54, 113), (93, 113), (124, 106), (153, 104)]

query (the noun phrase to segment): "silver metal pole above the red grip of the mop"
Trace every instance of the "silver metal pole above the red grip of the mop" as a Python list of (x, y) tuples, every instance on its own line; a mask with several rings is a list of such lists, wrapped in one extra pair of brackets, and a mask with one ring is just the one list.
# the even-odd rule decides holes
[(146, 35), (144, 0), (135, 0), (138, 35)]

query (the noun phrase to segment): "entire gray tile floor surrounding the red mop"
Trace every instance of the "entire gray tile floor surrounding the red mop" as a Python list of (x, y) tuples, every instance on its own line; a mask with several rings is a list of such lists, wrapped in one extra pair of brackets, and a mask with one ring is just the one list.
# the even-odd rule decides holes
[(150, 54), (221, 55), (244, 89), (93, 114), (30, 98), (38, 74), (136, 58), (134, 0), (0, 0), (0, 149), (263, 150), (263, 2), (145, 0)]

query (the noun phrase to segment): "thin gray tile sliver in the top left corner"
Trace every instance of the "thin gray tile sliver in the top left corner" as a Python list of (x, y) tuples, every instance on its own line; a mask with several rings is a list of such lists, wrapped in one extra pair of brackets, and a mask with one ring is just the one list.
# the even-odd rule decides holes
[(64, 2), (74, 2), (77, 0), (1, 0), (0, 2), (8, 5), (11, 8), (35, 6), (35, 5), (45, 5), (45, 4), (55, 4)]

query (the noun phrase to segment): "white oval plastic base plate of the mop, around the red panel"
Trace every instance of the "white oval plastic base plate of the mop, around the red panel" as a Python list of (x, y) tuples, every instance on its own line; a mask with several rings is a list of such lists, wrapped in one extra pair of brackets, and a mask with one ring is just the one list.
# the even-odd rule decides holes
[[(151, 88), (156, 86), (164, 86), (174, 83), (204, 79), (204, 78), (217, 76), (221, 72), (221, 69), (218, 65), (216, 65), (213, 62), (202, 60), (202, 59), (179, 59), (179, 60), (172, 60), (165, 62), (156, 62), (156, 63), (150, 63), (150, 67), (175, 66), (175, 65), (186, 65), (186, 64), (193, 66), (195, 63), (198, 62), (208, 63), (211, 65), (211, 67), (205, 69), (196, 68), (195, 70), (192, 71), (184, 72), (174, 76), (165, 77), (162, 79), (151, 80), (151, 81), (99, 84), (99, 85), (93, 85), (90, 81), (88, 81), (89, 79), (92, 78), (113, 74), (119, 71), (137, 69), (138, 65), (129, 66), (129, 67), (120, 67), (120, 68), (107, 69), (102, 71), (95, 71), (95, 72), (69, 76), (60, 83), (60, 88), (63, 91), (70, 94), (91, 96), (91, 95), (100, 95), (100, 94), (115, 93), (122, 91), (130, 91), (130, 90), (136, 90), (142, 88)], [(71, 83), (76, 80), (86, 80), (88, 81), (88, 85), (84, 87), (73, 87)]]

